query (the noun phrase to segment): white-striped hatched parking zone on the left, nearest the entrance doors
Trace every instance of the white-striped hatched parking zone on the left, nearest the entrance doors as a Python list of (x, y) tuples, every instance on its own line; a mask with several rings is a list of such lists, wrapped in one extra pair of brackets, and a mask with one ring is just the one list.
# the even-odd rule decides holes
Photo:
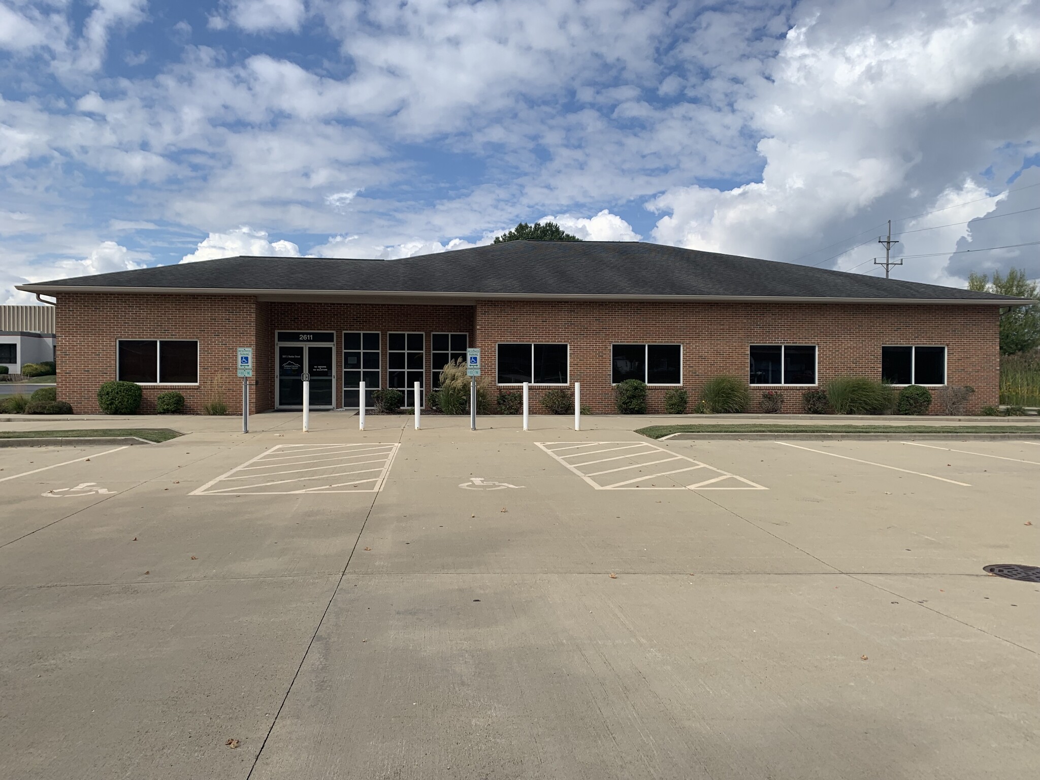
[(378, 493), (400, 444), (279, 444), (192, 496)]

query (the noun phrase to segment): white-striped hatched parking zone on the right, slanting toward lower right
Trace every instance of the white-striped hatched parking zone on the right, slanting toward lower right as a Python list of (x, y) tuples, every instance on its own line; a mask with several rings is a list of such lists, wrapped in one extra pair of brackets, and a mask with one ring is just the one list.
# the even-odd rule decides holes
[(769, 490), (648, 442), (535, 443), (596, 490)]

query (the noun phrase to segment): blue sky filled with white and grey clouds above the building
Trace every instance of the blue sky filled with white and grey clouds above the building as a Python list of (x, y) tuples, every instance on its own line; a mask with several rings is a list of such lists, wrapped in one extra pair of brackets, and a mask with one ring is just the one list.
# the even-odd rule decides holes
[(964, 252), (1040, 240), (1037, 2), (0, 0), (0, 75), (10, 302), (547, 216), (854, 272), (892, 218), (902, 278), (1040, 276)]

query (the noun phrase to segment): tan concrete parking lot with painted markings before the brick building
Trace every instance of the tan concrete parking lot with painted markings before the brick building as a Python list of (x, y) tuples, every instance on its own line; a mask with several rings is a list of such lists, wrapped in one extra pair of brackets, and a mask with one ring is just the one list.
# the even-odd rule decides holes
[(1040, 763), (1040, 444), (314, 420), (0, 448), (0, 777)]

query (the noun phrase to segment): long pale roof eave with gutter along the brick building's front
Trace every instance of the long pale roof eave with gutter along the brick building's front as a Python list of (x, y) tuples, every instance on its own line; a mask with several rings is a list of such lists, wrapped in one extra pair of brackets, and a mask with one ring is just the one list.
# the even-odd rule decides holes
[(88, 285), (16, 285), (15, 289), (53, 295), (68, 292), (109, 292), (122, 294), (165, 295), (356, 295), (379, 297), (468, 297), (483, 301), (656, 301), (703, 303), (778, 303), (778, 304), (928, 304), (953, 306), (1032, 306), (1028, 298), (899, 298), (899, 297), (827, 297), (813, 295), (641, 295), (641, 294), (550, 294), (540, 292), (446, 292), (402, 290), (306, 290), (306, 289), (250, 289), (220, 287), (103, 287)]

